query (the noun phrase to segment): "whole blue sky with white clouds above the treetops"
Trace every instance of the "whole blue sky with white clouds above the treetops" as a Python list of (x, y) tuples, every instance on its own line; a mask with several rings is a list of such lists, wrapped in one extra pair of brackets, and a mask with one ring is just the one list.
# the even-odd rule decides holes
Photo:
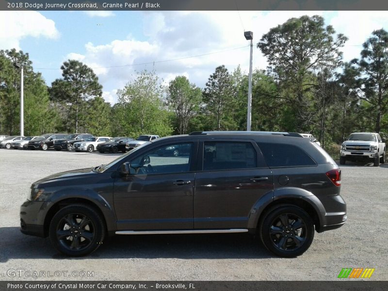
[[(388, 29), (387, 12), (0, 11), (0, 27), (6, 28), (0, 30), (0, 49), (28, 52), (48, 85), (61, 77), (59, 68), (64, 61), (80, 60), (94, 68), (103, 97), (113, 104), (116, 90), (144, 69), (154, 69), (166, 84), (185, 75), (202, 88), (218, 65), (230, 71), (241, 65), (248, 71), (249, 42), (244, 31), (254, 32), (256, 44), (270, 28), (287, 19), (316, 14), (349, 37), (342, 49), (345, 60), (359, 57), (362, 42), (373, 30)], [(158, 63), (173, 59), (180, 60)], [(156, 63), (136, 65), (152, 62)], [(266, 65), (254, 47), (254, 68)]]

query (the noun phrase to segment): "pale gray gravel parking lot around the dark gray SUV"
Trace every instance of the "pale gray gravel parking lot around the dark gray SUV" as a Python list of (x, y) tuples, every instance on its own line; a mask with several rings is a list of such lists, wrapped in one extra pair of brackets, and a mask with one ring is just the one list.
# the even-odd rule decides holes
[(246, 234), (116, 236), (88, 257), (67, 258), (48, 239), (20, 233), (19, 206), (33, 181), (118, 155), (0, 149), (1, 280), (337, 280), (342, 268), (357, 267), (375, 268), (368, 280), (388, 280), (388, 164), (341, 167), (348, 221), (315, 233), (309, 250), (295, 259), (271, 255)]

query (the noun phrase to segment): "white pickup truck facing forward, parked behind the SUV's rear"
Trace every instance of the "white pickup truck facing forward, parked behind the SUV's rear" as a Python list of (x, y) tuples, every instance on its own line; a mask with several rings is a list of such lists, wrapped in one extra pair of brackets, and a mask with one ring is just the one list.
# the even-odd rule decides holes
[(373, 161), (375, 167), (385, 162), (385, 140), (378, 133), (354, 132), (341, 145), (339, 164), (346, 161)]

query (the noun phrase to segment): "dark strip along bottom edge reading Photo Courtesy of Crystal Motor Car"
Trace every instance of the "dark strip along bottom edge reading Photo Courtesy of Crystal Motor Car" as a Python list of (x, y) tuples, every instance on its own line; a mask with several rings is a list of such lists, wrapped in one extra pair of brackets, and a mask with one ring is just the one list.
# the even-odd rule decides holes
[(350, 291), (388, 290), (388, 281), (0, 281), (1, 291)]

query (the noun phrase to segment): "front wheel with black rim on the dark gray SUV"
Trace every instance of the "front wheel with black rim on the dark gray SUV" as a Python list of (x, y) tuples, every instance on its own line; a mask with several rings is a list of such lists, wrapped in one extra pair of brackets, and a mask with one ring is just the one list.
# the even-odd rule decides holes
[(101, 215), (83, 204), (62, 208), (51, 219), (49, 226), (49, 238), (54, 248), (71, 257), (94, 252), (104, 237), (105, 224)]

